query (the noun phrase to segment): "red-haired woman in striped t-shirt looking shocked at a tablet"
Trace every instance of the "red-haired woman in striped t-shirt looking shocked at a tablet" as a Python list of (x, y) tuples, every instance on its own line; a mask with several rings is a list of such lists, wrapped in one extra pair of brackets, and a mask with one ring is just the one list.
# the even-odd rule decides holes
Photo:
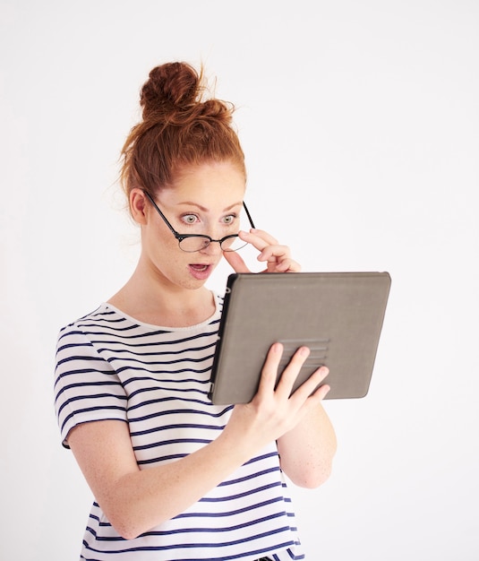
[(204, 285), (218, 262), (247, 272), (235, 248), (252, 244), (267, 272), (299, 265), (268, 233), (239, 230), (246, 173), (233, 107), (205, 91), (190, 65), (151, 71), (123, 150), (139, 263), (58, 338), (58, 422), (95, 496), (81, 559), (304, 558), (283, 473), (307, 488), (329, 476), (329, 387), (314, 392), (328, 370), (289, 397), (308, 349), (275, 389), (273, 345), (248, 404), (207, 397), (223, 300)]

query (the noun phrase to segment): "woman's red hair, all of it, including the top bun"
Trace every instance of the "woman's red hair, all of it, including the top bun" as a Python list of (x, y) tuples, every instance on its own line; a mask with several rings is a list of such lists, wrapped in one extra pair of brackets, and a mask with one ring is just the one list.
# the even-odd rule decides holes
[(244, 152), (233, 129), (233, 104), (210, 98), (203, 73), (186, 63), (156, 66), (141, 88), (142, 121), (122, 149), (121, 183), (129, 198), (134, 187), (151, 196), (172, 186), (182, 168), (231, 161), (246, 178)]

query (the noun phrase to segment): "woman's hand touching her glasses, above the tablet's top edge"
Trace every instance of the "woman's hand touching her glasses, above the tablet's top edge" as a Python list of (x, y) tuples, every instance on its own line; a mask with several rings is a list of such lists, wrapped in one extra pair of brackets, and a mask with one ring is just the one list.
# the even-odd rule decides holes
[[(278, 240), (261, 229), (251, 229), (249, 232), (241, 230), (239, 237), (260, 251), (258, 261), (266, 263), (262, 272), (300, 272), (301, 265), (291, 259), (289, 247), (280, 246)], [(243, 258), (235, 251), (224, 252), (225, 259), (235, 272), (251, 272)]]

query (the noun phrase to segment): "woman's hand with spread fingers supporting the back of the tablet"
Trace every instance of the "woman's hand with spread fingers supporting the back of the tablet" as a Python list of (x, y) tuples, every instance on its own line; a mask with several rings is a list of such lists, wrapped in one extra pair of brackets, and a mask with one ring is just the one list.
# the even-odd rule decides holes
[(318, 387), (329, 373), (327, 367), (321, 367), (291, 393), (310, 354), (307, 347), (296, 350), (276, 384), (282, 354), (283, 345), (274, 343), (261, 371), (258, 392), (249, 403), (235, 405), (223, 432), (225, 437), (235, 437), (237, 446), (251, 448), (251, 453), (293, 429), (329, 392), (327, 384)]

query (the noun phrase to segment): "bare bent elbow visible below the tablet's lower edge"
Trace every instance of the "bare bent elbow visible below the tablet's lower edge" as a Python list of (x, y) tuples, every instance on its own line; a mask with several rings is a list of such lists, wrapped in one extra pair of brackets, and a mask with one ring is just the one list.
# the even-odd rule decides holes
[(329, 478), (336, 449), (336, 434), (322, 405), (278, 438), (281, 469), (299, 487), (316, 488)]

